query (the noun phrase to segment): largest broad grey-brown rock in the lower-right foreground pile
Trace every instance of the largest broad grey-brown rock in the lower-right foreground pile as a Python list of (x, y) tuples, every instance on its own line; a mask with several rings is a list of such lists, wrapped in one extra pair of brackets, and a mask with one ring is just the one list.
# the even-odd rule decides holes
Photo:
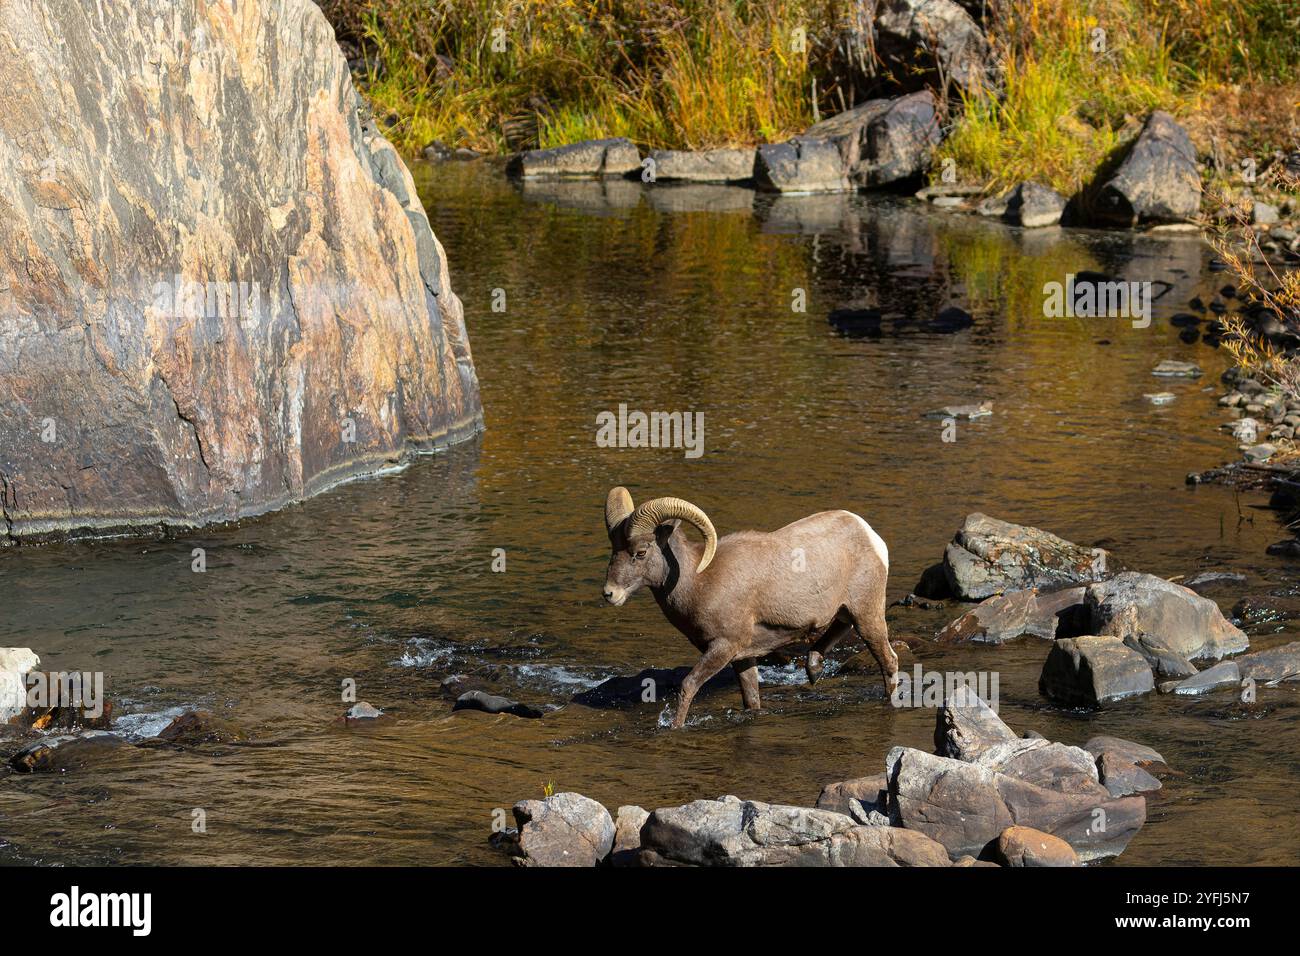
[(1141, 797), (1115, 799), (1100, 787), (1046, 790), (910, 748), (896, 747), (885, 766), (890, 816), (944, 844), (953, 857), (979, 856), (1014, 825), (1061, 838), (1083, 861), (1118, 856), (1147, 819)]

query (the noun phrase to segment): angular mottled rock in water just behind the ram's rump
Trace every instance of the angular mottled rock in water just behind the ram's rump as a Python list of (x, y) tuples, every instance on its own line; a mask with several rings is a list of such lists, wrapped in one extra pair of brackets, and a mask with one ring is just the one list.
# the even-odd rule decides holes
[(982, 601), (1006, 591), (1096, 581), (1106, 576), (1108, 559), (1100, 548), (1080, 548), (1049, 532), (975, 512), (945, 549), (944, 570), (957, 597)]

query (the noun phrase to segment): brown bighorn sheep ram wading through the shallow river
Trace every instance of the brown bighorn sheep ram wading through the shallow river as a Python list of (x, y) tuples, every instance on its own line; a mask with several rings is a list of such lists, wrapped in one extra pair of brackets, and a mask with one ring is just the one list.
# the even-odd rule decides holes
[[(696, 544), (681, 531), (693, 524)], [(686, 722), (701, 685), (728, 663), (746, 708), (758, 708), (758, 658), (776, 648), (811, 644), (809, 680), (823, 656), (850, 628), (880, 665), (885, 691), (898, 675), (898, 656), (885, 626), (889, 551), (871, 525), (850, 511), (822, 511), (774, 532), (742, 531), (722, 540), (712, 522), (681, 498), (654, 498), (640, 507), (627, 488), (604, 502), (614, 553), (604, 600), (615, 607), (650, 588), (664, 617), (703, 657), (681, 682), (672, 726)]]

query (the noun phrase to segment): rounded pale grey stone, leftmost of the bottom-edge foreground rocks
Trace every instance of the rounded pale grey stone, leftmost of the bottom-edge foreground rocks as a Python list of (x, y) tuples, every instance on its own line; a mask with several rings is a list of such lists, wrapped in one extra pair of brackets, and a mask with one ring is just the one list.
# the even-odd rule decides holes
[(520, 800), (514, 813), (525, 866), (595, 866), (614, 849), (614, 818), (581, 793)]

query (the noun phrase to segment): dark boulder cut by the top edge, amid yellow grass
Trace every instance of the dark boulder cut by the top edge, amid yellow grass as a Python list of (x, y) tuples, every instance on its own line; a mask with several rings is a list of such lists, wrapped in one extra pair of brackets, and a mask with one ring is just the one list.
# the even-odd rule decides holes
[(833, 42), (835, 74), (864, 96), (944, 83), (979, 95), (1002, 82), (984, 31), (952, 0), (855, 0)]

